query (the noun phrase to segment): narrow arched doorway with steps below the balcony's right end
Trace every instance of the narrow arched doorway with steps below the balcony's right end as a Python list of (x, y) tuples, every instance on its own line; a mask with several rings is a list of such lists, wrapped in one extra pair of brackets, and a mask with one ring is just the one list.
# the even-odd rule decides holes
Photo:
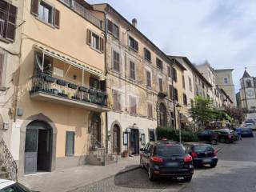
[(92, 146), (102, 147), (101, 118), (98, 114), (93, 114), (91, 119), (91, 142)]

